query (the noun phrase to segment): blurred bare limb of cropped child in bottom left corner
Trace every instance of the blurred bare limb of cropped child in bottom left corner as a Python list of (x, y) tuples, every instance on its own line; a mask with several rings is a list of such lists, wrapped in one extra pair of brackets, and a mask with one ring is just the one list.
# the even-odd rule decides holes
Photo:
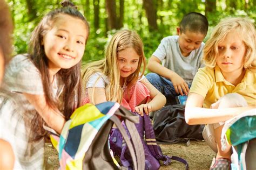
[(14, 152), (11, 145), (0, 139), (0, 169), (12, 169), (14, 167)]

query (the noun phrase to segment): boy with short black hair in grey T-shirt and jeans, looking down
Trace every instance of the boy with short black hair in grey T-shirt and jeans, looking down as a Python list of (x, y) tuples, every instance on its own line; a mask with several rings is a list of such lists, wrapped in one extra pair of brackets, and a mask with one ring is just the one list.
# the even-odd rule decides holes
[(188, 94), (194, 75), (203, 67), (201, 57), (207, 30), (204, 15), (188, 13), (177, 27), (178, 36), (163, 38), (149, 59), (147, 68), (152, 73), (146, 78), (165, 95), (166, 105), (177, 104), (176, 96)]

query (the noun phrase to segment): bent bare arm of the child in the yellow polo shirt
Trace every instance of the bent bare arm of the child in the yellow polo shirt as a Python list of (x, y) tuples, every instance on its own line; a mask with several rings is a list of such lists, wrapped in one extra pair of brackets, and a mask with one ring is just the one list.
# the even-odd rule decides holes
[(190, 93), (186, 101), (185, 119), (187, 124), (212, 124), (224, 122), (240, 113), (250, 110), (253, 107), (236, 107), (236, 108), (218, 108), (206, 109), (202, 108), (204, 97)]

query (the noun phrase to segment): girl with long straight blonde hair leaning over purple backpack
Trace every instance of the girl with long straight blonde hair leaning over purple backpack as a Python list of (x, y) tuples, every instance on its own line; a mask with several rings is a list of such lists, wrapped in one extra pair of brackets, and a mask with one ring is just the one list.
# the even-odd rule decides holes
[(130, 30), (117, 32), (106, 48), (105, 58), (83, 68), (85, 103), (118, 102), (140, 115), (143, 111), (149, 114), (160, 109), (166, 99), (143, 76), (145, 66), (143, 43), (138, 34)]

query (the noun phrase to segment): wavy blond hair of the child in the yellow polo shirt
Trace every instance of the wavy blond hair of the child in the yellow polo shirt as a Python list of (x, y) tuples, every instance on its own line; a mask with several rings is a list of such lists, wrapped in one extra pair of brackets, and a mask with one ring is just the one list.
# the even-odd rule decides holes
[(255, 27), (250, 20), (246, 18), (226, 18), (215, 26), (210, 39), (205, 43), (203, 60), (205, 65), (214, 68), (216, 66), (216, 57), (218, 53), (218, 44), (223, 41), (231, 31), (237, 31), (239, 37), (245, 44), (245, 69), (256, 69), (255, 57)]

